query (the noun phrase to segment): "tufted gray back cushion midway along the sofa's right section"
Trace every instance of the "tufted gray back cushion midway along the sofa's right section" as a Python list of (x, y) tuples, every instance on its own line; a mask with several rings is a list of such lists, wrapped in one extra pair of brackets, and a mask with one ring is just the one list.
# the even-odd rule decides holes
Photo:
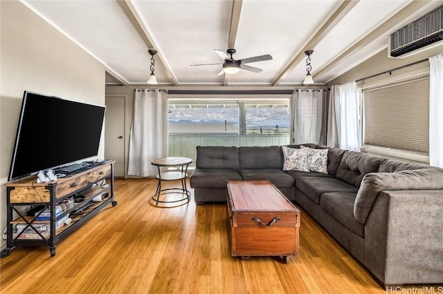
[(341, 159), (336, 177), (359, 188), (363, 177), (368, 173), (377, 172), (384, 160), (386, 159), (356, 151), (348, 151)]

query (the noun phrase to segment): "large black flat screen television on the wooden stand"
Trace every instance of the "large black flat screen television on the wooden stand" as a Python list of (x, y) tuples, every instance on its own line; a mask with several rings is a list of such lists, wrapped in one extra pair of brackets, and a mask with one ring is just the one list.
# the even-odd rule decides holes
[(105, 106), (24, 92), (9, 181), (98, 156)]

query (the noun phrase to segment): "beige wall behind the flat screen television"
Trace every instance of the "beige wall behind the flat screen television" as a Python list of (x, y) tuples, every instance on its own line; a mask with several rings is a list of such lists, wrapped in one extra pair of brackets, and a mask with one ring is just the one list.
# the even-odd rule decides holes
[[(19, 1), (0, 1), (0, 229), (6, 227), (6, 188), (24, 90), (105, 105), (105, 67)], [(54, 122), (58, 123), (59, 122)], [(51, 126), (35, 131), (51, 135)], [(104, 157), (104, 139), (99, 150)], [(0, 244), (3, 244), (2, 239)]]

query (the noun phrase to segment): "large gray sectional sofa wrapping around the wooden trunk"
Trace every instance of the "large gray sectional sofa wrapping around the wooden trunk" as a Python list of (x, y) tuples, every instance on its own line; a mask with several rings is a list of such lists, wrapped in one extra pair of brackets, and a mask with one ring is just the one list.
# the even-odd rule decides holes
[(381, 285), (443, 283), (443, 168), (302, 146), (328, 149), (327, 173), (283, 170), (282, 146), (197, 146), (195, 202), (226, 201), (230, 179), (269, 179)]

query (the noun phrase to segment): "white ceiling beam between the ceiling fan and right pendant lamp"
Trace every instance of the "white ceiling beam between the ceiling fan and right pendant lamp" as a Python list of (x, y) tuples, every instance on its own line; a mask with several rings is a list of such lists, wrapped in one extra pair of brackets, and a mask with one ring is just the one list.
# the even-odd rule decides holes
[(355, 1), (343, 1), (340, 6), (334, 11), (334, 13), (325, 21), (323, 26), (320, 27), (320, 29), (315, 33), (309, 41), (303, 46), (303, 48), (300, 48), (298, 52), (296, 52), (296, 55), (293, 57), (291, 61), (289, 61), (289, 64), (280, 72), (277, 78), (274, 79), (272, 82), (272, 86), (278, 86), (282, 79), (286, 77), (289, 72), (295, 68), (300, 61), (305, 59), (305, 51), (306, 50), (312, 50), (317, 46), (318, 43), (336, 26), (338, 22), (345, 17), (347, 13), (349, 13), (354, 6), (356, 6), (357, 3), (359, 3), (360, 0)]

